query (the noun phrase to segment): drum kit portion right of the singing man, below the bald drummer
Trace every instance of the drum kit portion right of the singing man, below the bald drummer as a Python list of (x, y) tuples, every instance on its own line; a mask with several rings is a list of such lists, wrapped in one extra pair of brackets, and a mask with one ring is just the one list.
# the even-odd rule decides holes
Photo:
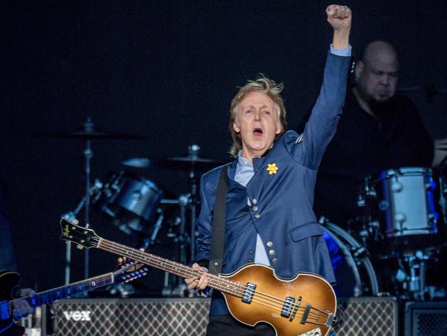
[(320, 218), (329, 251), (330, 242), (336, 244), (349, 270), (338, 271), (331, 255), (336, 277), (339, 274), (342, 284), (348, 277), (347, 286), (353, 288), (350, 292), (342, 290), (341, 295), (445, 299), (444, 286), (427, 281), (439, 272), (441, 251), (446, 248), (447, 183), (443, 169), (441, 166), (439, 184), (432, 169), (424, 167), (387, 169), (375, 178), (368, 176), (358, 193), (363, 215), (350, 220), (347, 230)]

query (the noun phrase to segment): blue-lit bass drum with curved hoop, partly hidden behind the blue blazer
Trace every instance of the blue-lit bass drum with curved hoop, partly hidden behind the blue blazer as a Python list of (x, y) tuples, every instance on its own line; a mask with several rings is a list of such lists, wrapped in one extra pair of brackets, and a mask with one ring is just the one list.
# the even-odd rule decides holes
[(336, 275), (337, 296), (358, 297), (379, 294), (379, 284), (367, 250), (347, 231), (320, 219), (332, 268)]

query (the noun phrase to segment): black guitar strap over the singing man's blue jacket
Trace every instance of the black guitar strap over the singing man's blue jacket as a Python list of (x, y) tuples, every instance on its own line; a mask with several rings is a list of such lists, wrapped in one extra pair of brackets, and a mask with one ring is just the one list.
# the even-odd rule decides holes
[(212, 216), (211, 251), (209, 272), (219, 274), (222, 271), (223, 244), (225, 243), (226, 200), (228, 193), (228, 165), (223, 166), (217, 184), (214, 216)]

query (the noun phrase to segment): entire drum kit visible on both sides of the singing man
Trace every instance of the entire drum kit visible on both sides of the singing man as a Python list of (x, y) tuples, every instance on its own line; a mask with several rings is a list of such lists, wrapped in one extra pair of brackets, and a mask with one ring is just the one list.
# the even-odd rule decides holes
[[(88, 225), (90, 210), (100, 211), (124, 233), (143, 238), (141, 248), (146, 250), (153, 247), (160, 229), (167, 225), (166, 235), (178, 249), (175, 259), (182, 264), (193, 260), (199, 206), (198, 174), (220, 165), (215, 160), (199, 156), (199, 145), (188, 146), (185, 156), (129, 158), (122, 162), (125, 169), (114, 172), (105, 182), (97, 178), (91, 182), (91, 140), (138, 140), (142, 137), (100, 132), (89, 119), (75, 132), (37, 135), (86, 140), (85, 196), (74, 210), (65, 213), (65, 219), (76, 220), (84, 210), (84, 222)], [(164, 191), (153, 181), (135, 173), (135, 169), (152, 167), (186, 171), (189, 192), (177, 198), (165, 198)], [(446, 297), (444, 288), (427, 282), (430, 266), (437, 262), (440, 251), (445, 248), (446, 230), (440, 223), (447, 223), (446, 173), (446, 165), (441, 165), (439, 183), (436, 183), (429, 168), (402, 167), (382, 171), (378, 176), (364, 178), (357, 202), (363, 215), (351, 220), (347, 229), (327, 218), (320, 218), (336, 277), (342, 279), (338, 281), (339, 295), (393, 295), (403, 300)], [(65, 267), (67, 284), (71, 263), (69, 246), (67, 244)], [(88, 253), (87, 249), (85, 251)], [(88, 263), (86, 254), (85, 277), (89, 276)], [(379, 268), (380, 273), (375, 271)], [(170, 279), (168, 275), (162, 294), (190, 295), (180, 279)]]

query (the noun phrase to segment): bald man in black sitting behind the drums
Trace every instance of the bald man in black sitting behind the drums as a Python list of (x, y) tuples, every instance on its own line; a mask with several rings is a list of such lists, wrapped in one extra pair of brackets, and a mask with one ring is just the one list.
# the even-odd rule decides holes
[(345, 229), (349, 220), (364, 214), (357, 201), (366, 176), (377, 178), (380, 171), (399, 167), (435, 167), (446, 154), (446, 139), (433, 143), (414, 103), (396, 94), (399, 61), (391, 44), (369, 43), (354, 74), (318, 169), (314, 202), (317, 216)]

